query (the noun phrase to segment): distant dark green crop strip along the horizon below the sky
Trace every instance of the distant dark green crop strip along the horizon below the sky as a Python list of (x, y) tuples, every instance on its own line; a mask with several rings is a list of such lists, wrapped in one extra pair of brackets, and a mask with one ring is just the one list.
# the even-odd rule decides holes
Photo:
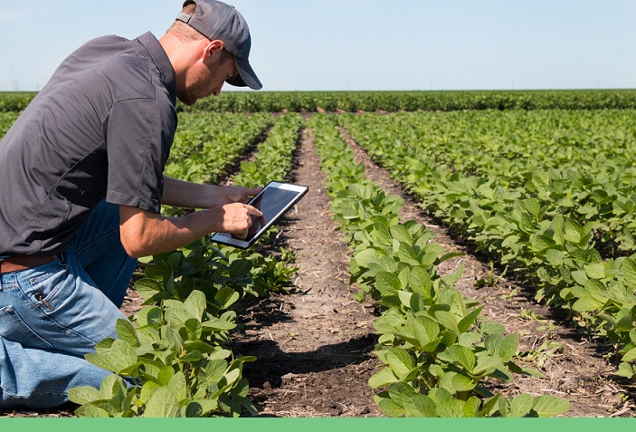
[[(0, 93), (0, 112), (24, 110), (34, 92)], [(606, 110), (636, 109), (636, 91), (224, 91), (178, 110), (318, 112), (358, 110)]]

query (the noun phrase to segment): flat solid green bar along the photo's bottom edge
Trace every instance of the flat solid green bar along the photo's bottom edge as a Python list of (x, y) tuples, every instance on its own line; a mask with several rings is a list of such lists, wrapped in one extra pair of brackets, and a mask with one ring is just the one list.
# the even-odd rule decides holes
[(2, 432), (598, 432), (603, 427), (633, 430), (636, 418), (0, 418)]

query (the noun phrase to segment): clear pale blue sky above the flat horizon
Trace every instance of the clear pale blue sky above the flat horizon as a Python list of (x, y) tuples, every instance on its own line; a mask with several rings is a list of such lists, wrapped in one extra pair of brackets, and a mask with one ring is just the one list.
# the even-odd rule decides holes
[[(263, 90), (636, 88), (636, 0), (229, 3)], [(158, 37), (181, 4), (0, 0), (0, 91), (40, 90), (93, 37)]]

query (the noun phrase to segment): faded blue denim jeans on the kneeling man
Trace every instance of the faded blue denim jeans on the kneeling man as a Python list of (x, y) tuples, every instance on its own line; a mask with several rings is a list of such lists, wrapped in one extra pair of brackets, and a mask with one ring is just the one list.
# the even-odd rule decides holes
[(0, 274), (0, 409), (52, 408), (109, 371), (84, 360), (115, 323), (137, 260), (119, 240), (119, 206), (102, 201), (58, 260)]

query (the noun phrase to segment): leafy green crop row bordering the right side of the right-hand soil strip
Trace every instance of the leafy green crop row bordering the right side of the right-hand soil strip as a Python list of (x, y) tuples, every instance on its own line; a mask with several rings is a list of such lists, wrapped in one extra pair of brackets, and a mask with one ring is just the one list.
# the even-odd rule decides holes
[[(584, 207), (577, 201), (580, 197), (589, 197), (587, 203), (596, 198), (615, 199), (609, 206), (598, 207), (596, 219), (582, 221), (572, 211), (560, 214), (555, 207), (559, 203), (552, 201), (554, 197), (532, 196), (530, 187), (523, 191), (507, 188), (496, 174), (477, 177), (427, 157), (427, 151), (446, 151), (444, 146), (428, 147), (425, 141), (399, 143), (395, 138), (398, 132), (381, 122), (356, 124), (356, 119), (349, 118), (344, 124), (372, 158), (421, 199), (422, 206), (509, 273), (533, 286), (537, 300), (565, 308), (583, 330), (612, 342), (616, 352), (622, 354), (618, 374), (636, 376), (631, 365), (636, 359), (636, 261), (633, 256), (603, 258), (594, 233), (599, 226), (609, 225), (612, 217), (622, 214), (628, 221), (624, 226), (633, 229), (633, 192), (619, 196), (621, 188), (612, 187), (612, 182), (594, 183), (593, 174), (573, 169), (572, 177), (584, 179), (573, 182), (567, 192), (574, 210), (580, 212)], [(436, 130), (430, 133), (435, 136)], [(493, 135), (497, 135), (497, 130), (489, 132), (489, 137)], [(481, 154), (478, 147), (472, 149)], [(460, 159), (460, 153), (455, 153), (455, 157)], [(501, 159), (505, 166), (506, 161)], [(458, 165), (461, 163), (458, 160)], [(523, 175), (520, 174), (522, 178)], [(535, 176), (533, 172), (531, 178)], [(553, 185), (550, 178), (545, 183), (546, 194), (563, 186), (563, 182)], [(576, 185), (584, 187), (577, 189)], [(608, 213), (610, 216), (603, 219)]]

